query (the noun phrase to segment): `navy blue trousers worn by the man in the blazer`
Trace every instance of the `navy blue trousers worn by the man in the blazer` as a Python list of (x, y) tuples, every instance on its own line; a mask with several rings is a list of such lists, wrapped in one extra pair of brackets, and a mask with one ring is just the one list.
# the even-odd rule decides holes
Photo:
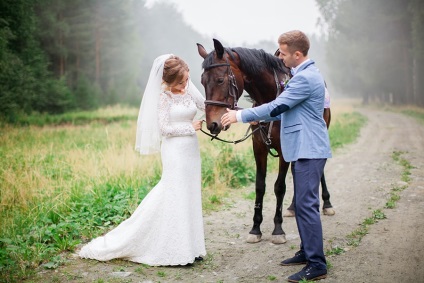
[(327, 159), (299, 159), (291, 163), (294, 182), (294, 206), (300, 250), (308, 263), (326, 269), (319, 212), (319, 185)]

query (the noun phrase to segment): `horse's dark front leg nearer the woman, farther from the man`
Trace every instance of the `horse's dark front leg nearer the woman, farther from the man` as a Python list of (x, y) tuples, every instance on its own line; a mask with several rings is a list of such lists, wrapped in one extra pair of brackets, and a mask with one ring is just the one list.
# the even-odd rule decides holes
[(253, 215), (253, 227), (247, 237), (248, 243), (257, 243), (262, 239), (261, 224), (263, 220), (262, 208), (265, 195), (265, 177), (267, 167), (267, 151), (264, 151), (264, 146), (260, 142), (255, 142), (253, 139), (253, 153), (256, 161), (256, 182), (255, 182), (255, 213)]

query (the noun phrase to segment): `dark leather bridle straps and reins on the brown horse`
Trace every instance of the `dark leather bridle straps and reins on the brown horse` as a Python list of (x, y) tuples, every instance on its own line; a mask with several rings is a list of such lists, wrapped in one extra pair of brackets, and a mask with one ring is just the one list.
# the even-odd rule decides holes
[[(236, 77), (235, 77), (235, 75), (234, 75), (234, 73), (231, 69), (231, 65), (228, 62), (228, 60), (227, 60), (226, 63), (212, 64), (212, 65), (208, 66), (207, 68), (205, 68), (205, 70), (212, 69), (212, 68), (215, 68), (215, 67), (223, 67), (223, 66), (227, 67), (227, 73), (228, 73), (228, 78), (229, 78), (229, 82), (230, 82), (229, 88), (228, 88), (228, 94), (225, 97), (225, 102), (217, 101), (217, 100), (205, 100), (205, 105), (206, 106), (207, 105), (214, 105), (214, 106), (219, 106), (219, 107), (226, 107), (226, 108), (230, 108), (232, 110), (242, 109), (242, 108), (238, 107), (238, 105), (237, 105), (237, 102), (238, 102), (240, 95), (239, 95), (239, 90), (238, 90), (238, 87), (237, 87)], [(277, 73), (275, 72), (275, 70), (274, 70), (274, 78), (275, 78), (275, 83), (277, 85), (277, 94), (276, 94), (276, 97), (277, 97), (281, 92), (281, 85), (278, 83), (278, 77), (277, 77)], [(233, 98), (233, 104), (228, 103), (228, 99), (230, 97)], [(219, 140), (219, 141), (225, 142), (225, 143), (238, 144), (240, 142), (245, 141), (251, 135), (253, 135), (256, 131), (259, 130), (260, 133), (261, 133), (261, 137), (262, 137), (263, 142), (268, 147), (269, 154), (271, 154), (271, 156), (273, 156), (273, 157), (278, 157), (279, 156), (278, 153), (274, 154), (271, 151), (271, 147), (270, 147), (271, 146), (271, 129), (272, 129), (273, 121), (271, 121), (269, 123), (268, 129), (266, 129), (267, 127), (264, 124), (268, 124), (268, 123), (259, 123), (257, 125), (258, 127), (256, 129), (254, 129), (253, 131), (252, 131), (252, 125), (249, 125), (244, 136), (241, 139), (238, 139), (238, 140), (235, 140), (235, 141), (228, 141), (228, 140), (221, 139), (221, 138), (218, 137), (218, 134), (211, 135), (208, 132), (205, 132), (203, 129), (200, 129), (200, 131), (202, 131), (202, 133), (204, 133), (205, 135), (211, 137), (211, 141), (216, 139), (216, 140)], [(249, 133), (249, 131), (251, 131), (251, 132)]]

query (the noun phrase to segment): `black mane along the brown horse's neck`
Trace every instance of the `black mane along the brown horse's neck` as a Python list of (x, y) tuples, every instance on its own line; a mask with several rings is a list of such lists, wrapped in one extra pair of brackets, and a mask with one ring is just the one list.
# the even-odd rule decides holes
[[(261, 72), (267, 70), (269, 72), (282, 72), (287, 74), (288, 70), (285, 68), (281, 60), (269, 53), (266, 53), (262, 49), (250, 49), (244, 47), (225, 48), (230, 57), (234, 60), (234, 53), (237, 53), (240, 57), (241, 69), (248, 76), (257, 76)], [(214, 64), (213, 52), (209, 53), (203, 61), (202, 67), (207, 69), (209, 66)]]

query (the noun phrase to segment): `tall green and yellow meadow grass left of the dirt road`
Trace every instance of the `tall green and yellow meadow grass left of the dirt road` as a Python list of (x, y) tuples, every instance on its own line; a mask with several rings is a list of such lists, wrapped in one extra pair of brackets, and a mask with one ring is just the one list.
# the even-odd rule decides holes
[[(134, 151), (136, 115), (137, 110), (118, 107), (21, 117), (26, 126), (2, 124), (1, 282), (30, 278), (39, 266), (65, 264), (64, 253), (126, 219), (159, 181), (160, 156)], [(334, 115), (330, 137), (338, 136), (341, 147), (355, 140), (364, 123), (359, 113)], [(233, 125), (222, 138), (238, 139), (246, 127)], [(208, 213), (222, 207), (229, 188), (252, 184), (255, 164), (249, 141), (232, 145), (198, 137)], [(269, 160), (269, 170), (275, 170), (277, 159)]]

